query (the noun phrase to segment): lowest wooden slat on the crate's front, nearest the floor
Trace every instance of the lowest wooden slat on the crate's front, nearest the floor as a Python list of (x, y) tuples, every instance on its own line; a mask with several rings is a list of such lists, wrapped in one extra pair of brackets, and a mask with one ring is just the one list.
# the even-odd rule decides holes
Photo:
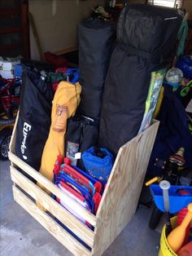
[(70, 250), (72, 254), (76, 256), (91, 255), (89, 249), (86, 249), (84, 245), (81, 245), (80, 242), (76, 241), (72, 235), (65, 231), (63, 227), (60, 227), (59, 224), (48, 214), (41, 211), (37, 205), (28, 198), (28, 196), (25, 196), (24, 193), (21, 192), (20, 189), (15, 188), (15, 186), (13, 186), (13, 196), (15, 201), (21, 205), (28, 214), (31, 214), (33, 218), (41, 223), (41, 225), (45, 227), (52, 236), (55, 236), (62, 245)]

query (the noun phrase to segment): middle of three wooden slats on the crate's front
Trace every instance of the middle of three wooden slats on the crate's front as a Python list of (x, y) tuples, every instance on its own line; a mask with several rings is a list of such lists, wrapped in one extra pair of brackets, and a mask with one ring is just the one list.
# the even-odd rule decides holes
[(32, 196), (33, 199), (43, 205), (46, 210), (53, 214), (61, 221), (66, 227), (68, 227), (76, 236), (79, 236), (82, 241), (85, 241), (89, 247), (94, 243), (94, 232), (89, 227), (85, 226), (76, 217), (65, 210), (63, 206), (59, 205), (51, 196), (47, 195), (41, 188), (37, 187), (31, 180), (26, 178), (14, 167), (11, 169), (11, 179), (20, 188)]

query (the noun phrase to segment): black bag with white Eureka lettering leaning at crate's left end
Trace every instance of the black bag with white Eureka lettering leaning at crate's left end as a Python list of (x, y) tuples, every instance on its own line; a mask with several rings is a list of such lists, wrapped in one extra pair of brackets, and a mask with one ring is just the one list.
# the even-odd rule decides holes
[(49, 135), (52, 100), (51, 84), (43, 81), (39, 72), (24, 70), (15, 152), (37, 171)]

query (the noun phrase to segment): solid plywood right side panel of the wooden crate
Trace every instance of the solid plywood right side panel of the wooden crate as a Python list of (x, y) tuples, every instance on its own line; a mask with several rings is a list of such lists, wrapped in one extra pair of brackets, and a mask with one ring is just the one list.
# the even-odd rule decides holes
[(137, 209), (159, 122), (120, 148), (98, 209), (93, 255), (102, 255)]

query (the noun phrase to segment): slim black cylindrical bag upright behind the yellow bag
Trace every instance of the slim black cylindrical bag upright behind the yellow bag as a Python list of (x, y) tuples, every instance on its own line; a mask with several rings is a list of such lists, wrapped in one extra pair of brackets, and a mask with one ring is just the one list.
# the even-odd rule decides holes
[(103, 85), (116, 39), (113, 25), (86, 20), (78, 25), (81, 103), (77, 113), (99, 120)]

